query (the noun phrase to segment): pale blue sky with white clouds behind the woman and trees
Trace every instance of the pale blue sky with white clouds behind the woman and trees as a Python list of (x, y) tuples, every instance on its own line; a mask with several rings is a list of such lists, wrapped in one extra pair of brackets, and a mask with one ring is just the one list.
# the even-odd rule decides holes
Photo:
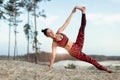
[[(120, 56), (120, 0), (52, 0), (40, 3), (45, 9), (47, 18), (38, 18), (37, 27), (39, 31), (38, 40), (42, 43), (41, 50), (51, 52), (52, 40), (46, 38), (40, 31), (49, 27), (55, 32), (66, 21), (74, 6), (86, 6), (87, 25), (85, 30), (85, 41), (83, 52), (95, 55), (119, 55)], [(23, 25), (27, 22), (24, 19), (18, 26), (18, 54), (26, 52), (26, 39), (23, 32)], [(31, 17), (32, 18), (32, 17)], [(31, 19), (31, 24), (34, 21)], [(77, 11), (64, 33), (73, 42), (75, 41), (81, 22), (81, 12)], [(0, 54), (7, 54), (8, 44), (8, 22), (0, 21)], [(14, 33), (12, 29), (11, 54), (13, 54)], [(30, 50), (33, 52), (33, 50)], [(62, 48), (57, 49), (58, 53), (66, 53)]]

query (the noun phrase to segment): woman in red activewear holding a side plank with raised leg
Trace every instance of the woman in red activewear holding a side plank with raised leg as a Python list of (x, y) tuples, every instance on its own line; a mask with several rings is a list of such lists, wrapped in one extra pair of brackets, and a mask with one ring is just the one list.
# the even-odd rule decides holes
[[(70, 21), (72, 19), (72, 16), (76, 12), (76, 10), (80, 10), (82, 12), (82, 20), (81, 20), (81, 26), (80, 26), (80, 29), (79, 29), (79, 33), (78, 33), (76, 42), (73, 43), (62, 32), (65, 30), (65, 28), (70, 23)], [(60, 47), (65, 48), (71, 56), (73, 56), (73, 57), (75, 57), (75, 58), (77, 58), (81, 61), (91, 63), (96, 68), (98, 68), (99, 70), (104, 70), (104, 71), (107, 71), (109, 73), (112, 72), (111, 70), (108, 70), (104, 66), (100, 65), (96, 60), (94, 60), (93, 58), (91, 58), (90, 56), (88, 56), (88, 55), (86, 55), (85, 53), (82, 52), (82, 47), (83, 47), (83, 43), (84, 43), (84, 30), (85, 30), (85, 26), (86, 26), (85, 12), (86, 12), (85, 7), (76, 6), (72, 10), (70, 16), (68, 17), (66, 22), (63, 24), (63, 26), (58, 29), (57, 33), (54, 33), (49, 28), (46, 28), (46, 29), (42, 30), (42, 32), (47, 37), (50, 37), (50, 38), (53, 39), (53, 42), (52, 42), (52, 56), (51, 56), (51, 60), (50, 60), (50, 69), (52, 68), (52, 65), (53, 65), (54, 60), (55, 60), (56, 47), (60, 46)]]

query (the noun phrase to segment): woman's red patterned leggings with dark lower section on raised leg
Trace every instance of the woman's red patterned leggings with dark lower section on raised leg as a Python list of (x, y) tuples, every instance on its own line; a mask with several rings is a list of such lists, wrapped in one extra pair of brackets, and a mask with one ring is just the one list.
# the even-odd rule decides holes
[(100, 65), (95, 59), (91, 58), (90, 56), (86, 55), (82, 52), (82, 47), (84, 44), (84, 29), (86, 26), (86, 16), (82, 14), (81, 26), (79, 29), (79, 33), (76, 39), (76, 42), (73, 44), (71, 50), (69, 51), (70, 55), (88, 63), (93, 64), (99, 70), (108, 71), (106, 67)]

